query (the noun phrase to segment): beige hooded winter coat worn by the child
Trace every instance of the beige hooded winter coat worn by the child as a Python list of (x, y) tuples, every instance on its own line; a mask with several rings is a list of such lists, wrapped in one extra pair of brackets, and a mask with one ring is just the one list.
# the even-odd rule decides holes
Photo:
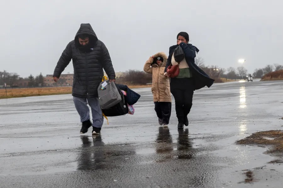
[(169, 78), (164, 76), (164, 69), (167, 62), (167, 56), (164, 52), (159, 52), (154, 57), (163, 57), (163, 62), (160, 65), (151, 64), (153, 58), (150, 57), (144, 64), (143, 70), (152, 74), (152, 87), (153, 102), (172, 102), (170, 93)]

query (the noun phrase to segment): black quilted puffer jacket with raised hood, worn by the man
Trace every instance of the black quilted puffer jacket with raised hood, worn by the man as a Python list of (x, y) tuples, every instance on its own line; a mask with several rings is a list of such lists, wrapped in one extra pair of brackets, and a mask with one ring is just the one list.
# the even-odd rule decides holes
[[(80, 48), (78, 36), (89, 35), (89, 48)], [(74, 82), (72, 95), (75, 97), (97, 97), (97, 88), (105, 70), (108, 78), (115, 79), (110, 55), (102, 41), (97, 39), (90, 24), (80, 24), (75, 40), (69, 42), (63, 51), (53, 73), (60, 77), (63, 70), (73, 60)]]

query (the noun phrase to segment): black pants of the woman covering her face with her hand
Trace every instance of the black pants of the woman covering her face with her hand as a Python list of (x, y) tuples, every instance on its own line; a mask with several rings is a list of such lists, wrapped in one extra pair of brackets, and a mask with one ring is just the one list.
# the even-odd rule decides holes
[(178, 122), (184, 123), (184, 118), (190, 113), (194, 86), (191, 78), (171, 78), (170, 91), (175, 98), (175, 109)]

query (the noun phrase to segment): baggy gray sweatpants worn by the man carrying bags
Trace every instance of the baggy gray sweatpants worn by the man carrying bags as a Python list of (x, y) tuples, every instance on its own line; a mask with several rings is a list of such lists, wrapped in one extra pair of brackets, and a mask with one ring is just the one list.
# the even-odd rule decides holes
[(83, 98), (74, 97), (75, 107), (80, 114), (80, 122), (84, 122), (90, 119), (89, 117), (89, 107), (92, 109), (92, 127), (101, 128), (103, 125), (103, 115), (98, 102), (97, 97), (94, 98)]

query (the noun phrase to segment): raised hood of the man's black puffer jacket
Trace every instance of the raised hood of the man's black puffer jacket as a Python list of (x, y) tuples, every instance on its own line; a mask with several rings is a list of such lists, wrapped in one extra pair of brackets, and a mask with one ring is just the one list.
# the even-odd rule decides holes
[(93, 45), (97, 42), (97, 36), (95, 34), (95, 32), (92, 29), (92, 26), (90, 24), (80, 24), (80, 29), (78, 30), (76, 36), (75, 36), (75, 45), (79, 46), (79, 38), (78, 36), (81, 34), (88, 34), (89, 35), (89, 41), (90, 41), (90, 45), (91, 47), (93, 47)]

